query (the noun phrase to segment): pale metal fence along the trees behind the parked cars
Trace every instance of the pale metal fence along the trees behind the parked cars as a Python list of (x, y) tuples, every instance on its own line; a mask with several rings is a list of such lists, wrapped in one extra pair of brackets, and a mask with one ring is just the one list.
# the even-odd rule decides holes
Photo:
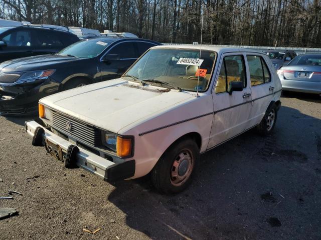
[[(164, 45), (193, 45), (193, 44), (181, 44), (181, 43), (163, 43)], [(215, 46), (215, 47), (243, 47), (243, 48), (250, 48), (250, 49), (259, 49), (259, 50), (293, 50), (297, 54), (304, 54), (304, 53), (314, 53), (320, 52), (321, 48), (315, 47), (281, 47), (281, 46), (246, 46), (246, 45), (214, 45), (214, 44), (203, 44), (203, 46)]]

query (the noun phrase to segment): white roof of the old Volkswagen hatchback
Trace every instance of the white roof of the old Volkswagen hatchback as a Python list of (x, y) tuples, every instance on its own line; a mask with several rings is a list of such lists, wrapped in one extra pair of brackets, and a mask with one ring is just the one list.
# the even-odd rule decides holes
[(152, 48), (176, 48), (176, 49), (197, 49), (197, 50), (209, 50), (209, 51), (216, 51), (217, 53), (224, 53), (224, 52), (256, 52), (262, 53), (261, 50), (255, 50), (250, 48), (243, 48), (243, 47), (219, 47), (213, 45), (159, 45), (153, 46)]

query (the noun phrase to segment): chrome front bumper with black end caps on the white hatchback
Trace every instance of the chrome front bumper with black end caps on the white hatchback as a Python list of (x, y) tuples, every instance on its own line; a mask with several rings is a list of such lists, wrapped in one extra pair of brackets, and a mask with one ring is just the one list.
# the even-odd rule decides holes
[(135, 160), (115, 163), (79, 146), (79, 151), (71, 156), (68, 155), (70, 153), (68, 147), (74, 146), (71, 142), (49, 131), (35, 120), (26, 121), (25, 125), (26, 131), (33, 137), (34, 145), (46, 146), (48, 150), (48, 143), (50, 142), (50, 145), (55, 146), (55, 152), (50, 153), (54, 153), (53, 155), (56, 155), (58, 159), (62, 158), (60, 160), (65, 161), (72, 157), (71, 161), (76, 166), (82, 167), (105, 181), (126, 179), (135, 174)]

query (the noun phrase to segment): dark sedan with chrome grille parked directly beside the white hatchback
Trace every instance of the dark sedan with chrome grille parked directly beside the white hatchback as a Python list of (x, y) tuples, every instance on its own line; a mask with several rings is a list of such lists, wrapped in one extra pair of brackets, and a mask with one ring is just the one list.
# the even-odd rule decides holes
[(148, 48), (161, 43), (139, 38), (96, 37), (56, 54), (0, 64), (0, 114), (36, 113), (38, 100), (74, 87), (117, 78)]

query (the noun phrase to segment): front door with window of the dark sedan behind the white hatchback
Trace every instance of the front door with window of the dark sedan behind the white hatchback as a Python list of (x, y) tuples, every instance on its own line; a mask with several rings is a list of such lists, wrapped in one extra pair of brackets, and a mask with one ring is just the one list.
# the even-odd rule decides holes
[(101, 79), (120, 77), (138, 58), (134, 41), (122, 41), (111, 46), (100, 60)]

